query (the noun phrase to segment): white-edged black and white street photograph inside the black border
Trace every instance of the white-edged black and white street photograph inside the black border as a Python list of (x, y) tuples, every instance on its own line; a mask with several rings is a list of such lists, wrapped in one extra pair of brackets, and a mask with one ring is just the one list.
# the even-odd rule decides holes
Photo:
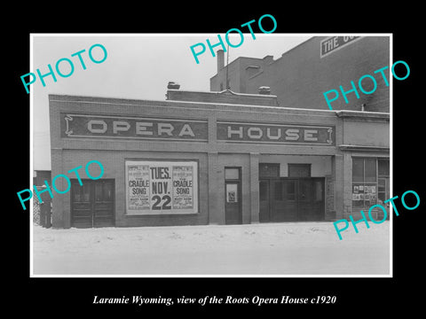
[(33, 35), (34, 276), (390, 276), (391, 41)]

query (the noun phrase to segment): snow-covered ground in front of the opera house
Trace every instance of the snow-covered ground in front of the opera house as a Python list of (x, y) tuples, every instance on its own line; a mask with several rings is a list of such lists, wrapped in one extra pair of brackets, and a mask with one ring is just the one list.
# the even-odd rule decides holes
[[(339, 225), (342, 227), (341, 225)], [(390, 222), (339, 240), (333, 222), (52, 230), (34, 275), (390, 275)]]

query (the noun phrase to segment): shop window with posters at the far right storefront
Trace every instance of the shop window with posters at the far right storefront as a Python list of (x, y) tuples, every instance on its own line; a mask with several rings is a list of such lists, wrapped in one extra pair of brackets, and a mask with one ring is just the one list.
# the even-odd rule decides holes
[(377, 203), (377, 159), (352, 158), (352, 208)]

